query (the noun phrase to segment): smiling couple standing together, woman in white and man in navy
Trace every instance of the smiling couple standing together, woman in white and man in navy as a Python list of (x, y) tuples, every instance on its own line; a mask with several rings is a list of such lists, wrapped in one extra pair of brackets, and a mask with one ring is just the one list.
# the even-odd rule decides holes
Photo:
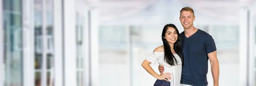
[[(157, 78), (154, 86), (207, 86), (208, 59), (214, 86), (218, 86), (215, 42), (208, 33), (194, 27), (194, 20), (193, 9), (184, 7), (180, 10), (182, 33), (173, 24), (164, 26), (163, 46), (157, 47), (142, 63), (143, 68)], [(160, 64), (160, 75), (154, 72), (151, 63)]]

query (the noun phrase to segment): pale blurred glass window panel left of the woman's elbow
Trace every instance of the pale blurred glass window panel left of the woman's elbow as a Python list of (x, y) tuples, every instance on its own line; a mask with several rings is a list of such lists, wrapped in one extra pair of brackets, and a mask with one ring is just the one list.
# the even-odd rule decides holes
[[(129, 84), (127, 31), (128, 26), (125, 25), (101, 25), (99, 27), (99, 76), (102, 76), (99, 78), (101, 82), (99, 86)], [(113, 71), (116, 69), (118, 71)]]

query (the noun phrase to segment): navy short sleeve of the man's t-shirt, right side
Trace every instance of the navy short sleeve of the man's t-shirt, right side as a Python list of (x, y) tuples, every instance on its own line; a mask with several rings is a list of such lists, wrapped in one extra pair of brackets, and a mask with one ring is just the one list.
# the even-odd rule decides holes
[(214, 39), (209, 34), (207, 34), (204, 38), (204, 45), (205, 45), (205, 50), (207, 54), (217, 50)]

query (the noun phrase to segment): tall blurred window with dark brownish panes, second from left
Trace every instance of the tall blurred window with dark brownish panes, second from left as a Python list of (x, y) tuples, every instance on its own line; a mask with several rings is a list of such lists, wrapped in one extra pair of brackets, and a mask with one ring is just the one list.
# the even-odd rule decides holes
[[(46, 10), (42, 10), (42, 2), (46, 3)], [(43, 17), (43, 13), (46, 17)], [(35, 86), (41, 86), (43, 58), (46, 58), (46, 81), (47, 86), (53, 85), (53, 1), (52, 0), (34, 0), (34, 23), (35, 23)], [(46, 28), (43, 27), (42, 19), (46, 20)], [(46, 34), (42, 34), (43, 30)], [(43, 51), (43, 37), (47, 39), (46, 51)], [(46, 52), (46, 55), (43, 53)], [(43, 57), (46, 56), (46, 57)]]

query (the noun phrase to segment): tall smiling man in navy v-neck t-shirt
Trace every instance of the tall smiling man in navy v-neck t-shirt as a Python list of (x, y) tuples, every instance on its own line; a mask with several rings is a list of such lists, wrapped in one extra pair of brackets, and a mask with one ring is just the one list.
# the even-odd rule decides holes
[[(207, 86), (208, 59), (210, 60), (214, 86), (218, 86), (219, 64), (215, 42), (208, 33), (194, 27), (195, 14), (192, 8), (180, 10), (180, 33), (183, 48), (181, 86)], [(163, 73), (163, 66), (159, 66)]]

